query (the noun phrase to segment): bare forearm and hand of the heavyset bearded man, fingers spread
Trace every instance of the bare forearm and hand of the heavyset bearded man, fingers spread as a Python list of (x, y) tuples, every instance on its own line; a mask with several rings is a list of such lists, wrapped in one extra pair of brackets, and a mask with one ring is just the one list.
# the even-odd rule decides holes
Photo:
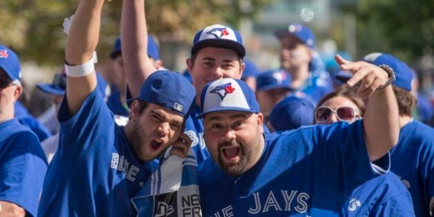
[(364, 114), (364, 137), (371, 161), (378, 160), (396, 145), (400, 134), (399, 112), (392, 86), (379, 90), (388, 80), (382, 68), (363, 61), (351, 62), (335, 57), (342, 70), (348, 70), (353, 77), (347, 85), (361, 81), (357, 94), (369, 99)]

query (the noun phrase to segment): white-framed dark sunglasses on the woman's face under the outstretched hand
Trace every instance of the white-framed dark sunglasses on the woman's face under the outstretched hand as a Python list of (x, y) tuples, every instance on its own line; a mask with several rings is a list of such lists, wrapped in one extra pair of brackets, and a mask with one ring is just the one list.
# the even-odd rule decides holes
[(331, 114), (335, 113), (339, 121), (353, 122), (360, 118), (353, 107), (342, 106), (338, 107), (337, 110), (331, 109), (328, 106), (320, 106), (315, 110), (315, 121), (317, 123), (323, 123), (329, 121)]

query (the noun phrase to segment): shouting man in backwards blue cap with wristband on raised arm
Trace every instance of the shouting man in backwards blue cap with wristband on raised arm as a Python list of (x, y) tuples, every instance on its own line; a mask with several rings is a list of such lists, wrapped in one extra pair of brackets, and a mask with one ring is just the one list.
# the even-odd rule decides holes
[(170, 145), (176, 147), (172, 154), (185, 157), (191, 144), (183, 125), (194, 87), (175, 72), (147, 74), (141, 89), (132, 89), (130, 122), (116, 125), (96, 88), (92, 56), (103, 3), (82, 0), (70, 26), (59, 147), (45, 176), (39, 216), (134, 216), (130, 199), (156, 168), (152, 160)]

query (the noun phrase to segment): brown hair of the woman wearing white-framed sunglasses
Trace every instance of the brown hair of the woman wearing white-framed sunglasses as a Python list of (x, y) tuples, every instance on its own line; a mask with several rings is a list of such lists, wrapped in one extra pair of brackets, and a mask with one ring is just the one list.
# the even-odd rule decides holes
[(364, 101), (362, 98), (360, 98), (355, 93), (355, 88), (358, 88), (358, 86), (355, 87), (348, 87), (347, 85), (342, 85), (338, 87), (337, 89), (333, 90), (333, 92), (330, 92), (329, 94), (322, 97), (322, 99), (318, 102), (316, 107), (319, 107), (322, 105), (325, 101), (328, 101), (329, 99), (335, 97), (335, 96), (344, 96), (345, 98), (351, 100), (360, 110), (361, 117), (364, 116), (364, 111), (366, 110), (366, 105), (364, 105)]

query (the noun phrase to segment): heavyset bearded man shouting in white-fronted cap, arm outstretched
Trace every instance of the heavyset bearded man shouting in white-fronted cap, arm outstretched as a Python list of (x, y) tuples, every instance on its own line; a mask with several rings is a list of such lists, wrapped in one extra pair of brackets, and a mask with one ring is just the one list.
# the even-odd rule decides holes
[(203, 216), (414, 216), (409, 192), (385, 174), (399, 134), (393, 71), (336, 61), (354, 74), (347, 85), (362, 83), (364, 120), (263, 134), (244, 82), (204, 87), (200, 116), (212, 158), (198, 168)]

